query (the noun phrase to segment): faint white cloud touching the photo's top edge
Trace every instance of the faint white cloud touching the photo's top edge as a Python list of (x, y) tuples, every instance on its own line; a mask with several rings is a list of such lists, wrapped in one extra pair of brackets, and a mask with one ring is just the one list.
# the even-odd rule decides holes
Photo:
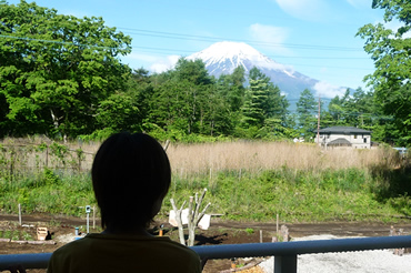
[(285, 13), (309, 21), (321, 20), (329, 8), (325, 0), (275, 0), (275, 2)]

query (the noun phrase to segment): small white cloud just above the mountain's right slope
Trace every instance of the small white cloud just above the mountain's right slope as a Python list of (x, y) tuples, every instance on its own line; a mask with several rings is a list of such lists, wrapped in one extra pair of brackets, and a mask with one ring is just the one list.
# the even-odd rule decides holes
[(292, 51), (283, 46), (284, 41), (289, 37), (289, 29), (254, 23), (249, 27), (249, 34), (252, 40), (269, 43), (263, 47), (267, 51), (271, 51), (278, 54), (292, 54)]

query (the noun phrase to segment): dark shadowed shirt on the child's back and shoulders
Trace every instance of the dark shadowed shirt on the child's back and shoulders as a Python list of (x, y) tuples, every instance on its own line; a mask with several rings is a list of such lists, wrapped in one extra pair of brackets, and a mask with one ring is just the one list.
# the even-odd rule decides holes
[(200, 257), (167, 236), (88, 234), (58, 249), (49, 273), (201, 272)]

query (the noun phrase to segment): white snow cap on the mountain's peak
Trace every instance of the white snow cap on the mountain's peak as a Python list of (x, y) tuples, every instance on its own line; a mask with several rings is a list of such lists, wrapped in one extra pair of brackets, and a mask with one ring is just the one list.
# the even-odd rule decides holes
[[(207, 67), (215, 67), (215, 70), (218, 68), (223, 73), (232, 73), (239, 65), (242, 65), (248, 72), (250, 69), (248, 63), (252, 63), (257, 68), (282, 70), (290, 75), (293, 73), (292, 69), (261, 54), (244, 42), (217, 42), (200, 52), (189, 55), (187, 59), (201, 59)], [(211, 74), (213, 73), (213, 71), (210, 72)]]

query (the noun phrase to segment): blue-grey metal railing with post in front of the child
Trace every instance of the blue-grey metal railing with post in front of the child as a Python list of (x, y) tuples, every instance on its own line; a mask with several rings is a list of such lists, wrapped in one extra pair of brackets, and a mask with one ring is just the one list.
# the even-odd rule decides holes
[[(192, 246), (201, 259), (274, 256), (274, 273), (297, 273), (297, 256), (302, 254), (371, 251), (411, 247), (411, 235), (354, 237), (280, 243), (250, 243)], [(0, 271), (20, 264), (26, 269), (46, 269), (51, 253), (0, 255)]]

